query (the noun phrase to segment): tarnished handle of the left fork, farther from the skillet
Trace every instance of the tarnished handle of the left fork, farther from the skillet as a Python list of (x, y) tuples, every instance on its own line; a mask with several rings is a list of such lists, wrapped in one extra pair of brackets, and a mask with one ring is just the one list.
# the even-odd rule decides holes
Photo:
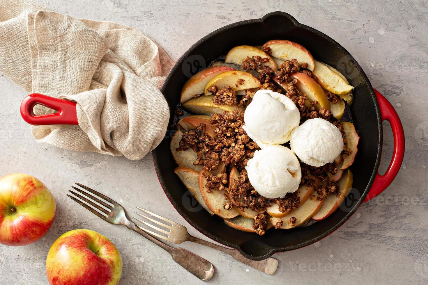
[(139, 233), (140, 235), (147, 238), (149, 241), (153, 242), (159, 247), (162, 247), (172, 256), (172, 259), (175, 262), (180, 264), (184, 269), (186, 269), (187, 271), (189, 271), (190, 273), (192, 273), (194, 276), (198, 277), (202, 281), (208, 281), (214, 275), (214, 266), (208, 260), (205, 260), (202, 257), (197, 256), (182, 248), (179, 248), (179, 247), (174, 248), (174, 247), (170, 247), (167, 244), (164, 244), (163, 242), (152, 237), (142, 229), (139, 229), (135, 225), (135, 223), (130, 222), (125, 226), (127, 226), (128, 229), (132, 229), (134, 232)]

